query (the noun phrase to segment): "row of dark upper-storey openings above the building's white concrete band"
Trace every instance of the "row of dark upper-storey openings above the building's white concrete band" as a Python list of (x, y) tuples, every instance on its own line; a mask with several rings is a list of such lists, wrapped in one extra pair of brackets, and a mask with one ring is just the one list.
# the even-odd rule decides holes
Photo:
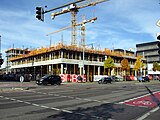
[[(46, 53), (46, 54), (37, 55), (33, 57), (21, 58), (19, 60), (13, 61), (12, 65), (20, 65), (20, 64), (26, 64), (26, 63), (47, 61), (47, 60), (53, 60), (53, 59), (59, 59), (59, 58), (83, 60), (83, 53), (73, 52), (73, 51), (54, 51), (51, 53)], [(115, 63), (120, 63), (121, 60), (123, 59), (122, 57), (116, 57), (116, 56), (112, 56), (111, 58), (114, 60)], [(99, 55), (99, 54), (85, 53), (84, 60), (104, 62), (105, 56)], [(128, 62), (129, 64), (133, 65), (135, 63), (135, 59), (128, 59)]]

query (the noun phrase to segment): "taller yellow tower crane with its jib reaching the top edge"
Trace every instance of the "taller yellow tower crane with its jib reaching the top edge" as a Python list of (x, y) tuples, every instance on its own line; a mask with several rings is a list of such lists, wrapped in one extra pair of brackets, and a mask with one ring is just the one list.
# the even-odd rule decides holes
[[(76, 45), (76, 26), (77, 26), (76, 15), (77, 15), (78, 10), (81, 8), (89, 7), (89, 6), (95, 6), (96, 4), (106, 2), (106, 1), (108, 0), (92, 0), (92, 1), (91, 0), (77, 0), (76, 2), (73, 2), (71, 4), (66, 4), (66, 5), (59, 6), (57, 8), (52, 9), (51, 11), (57, 10), (59, 8), (63, 8), (62, 10), (58, 12), (52, 13), (51, 17), (52, 19), (54, 19), (58, 15), (71, 12), (72, 14), (72, 27), (71, 27), (72, 28), (72, 42), (71, 42), (71, 45)], [(69, 7), (66, 7), (66, 6), (69, 6)]]

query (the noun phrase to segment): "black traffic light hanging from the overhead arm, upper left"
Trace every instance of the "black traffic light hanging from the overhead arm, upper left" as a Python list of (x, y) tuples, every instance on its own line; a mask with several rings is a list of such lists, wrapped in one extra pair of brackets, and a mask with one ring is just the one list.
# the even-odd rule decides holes
[(44, 10), (42, 7), (36, 7), (36, 18), (44, 21)]

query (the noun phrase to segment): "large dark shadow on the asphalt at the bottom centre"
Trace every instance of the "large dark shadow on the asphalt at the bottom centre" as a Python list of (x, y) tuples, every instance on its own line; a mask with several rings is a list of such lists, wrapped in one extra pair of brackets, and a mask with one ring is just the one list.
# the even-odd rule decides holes
[(112, 119), (112, 113), (121, 113), (125, 108), (116, 108), (113, 104), (107, 103), (89, 108), (77, 108), (73, 113), (60, 112), (59, 114), (48, 116), (51, 120), (108, 120)]

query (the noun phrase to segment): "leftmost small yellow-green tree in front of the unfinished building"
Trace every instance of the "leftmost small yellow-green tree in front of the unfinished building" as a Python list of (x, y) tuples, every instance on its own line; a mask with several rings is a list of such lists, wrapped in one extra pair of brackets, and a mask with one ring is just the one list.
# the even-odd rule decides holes
[(105, 61), (104, 61), (104, 69), (109, 69), (108, 75), (110, 75), (110, 69), (114, 67), (114, 60), (109, 56)]

